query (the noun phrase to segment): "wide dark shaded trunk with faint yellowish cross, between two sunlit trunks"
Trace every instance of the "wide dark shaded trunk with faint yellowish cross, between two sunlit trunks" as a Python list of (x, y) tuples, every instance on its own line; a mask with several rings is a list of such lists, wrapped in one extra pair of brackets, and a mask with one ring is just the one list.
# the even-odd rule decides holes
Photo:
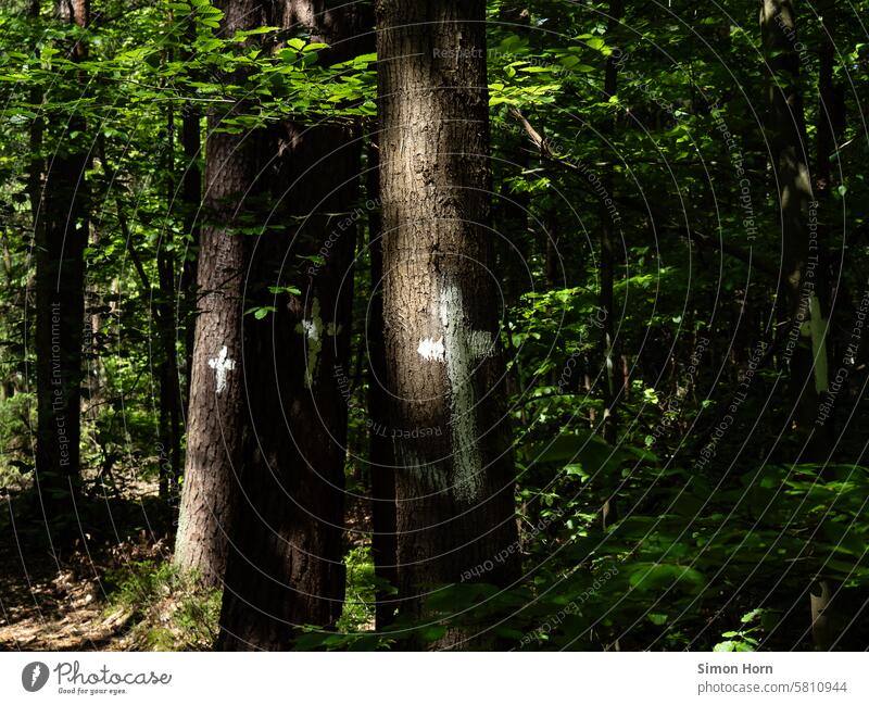
[[(327, 3), (329, 4), (329, 3)], [(291, 0), (275, 24), (307, 30), (354, 55), (358, 15), (349, 7)], [(353, 255), (361, 138), (345, 126), (272, 130), (275, 215), (251, 239), (244, 322), (248, 444), (243, 499), (226, 575), (218, 647), (289, 649), (294, 627), (331, 627), (344, 596), (343, 488)], [(303, 257), (319, 255), (322, 261)], [(287, 291), (293, 287), (300, 294)]]

